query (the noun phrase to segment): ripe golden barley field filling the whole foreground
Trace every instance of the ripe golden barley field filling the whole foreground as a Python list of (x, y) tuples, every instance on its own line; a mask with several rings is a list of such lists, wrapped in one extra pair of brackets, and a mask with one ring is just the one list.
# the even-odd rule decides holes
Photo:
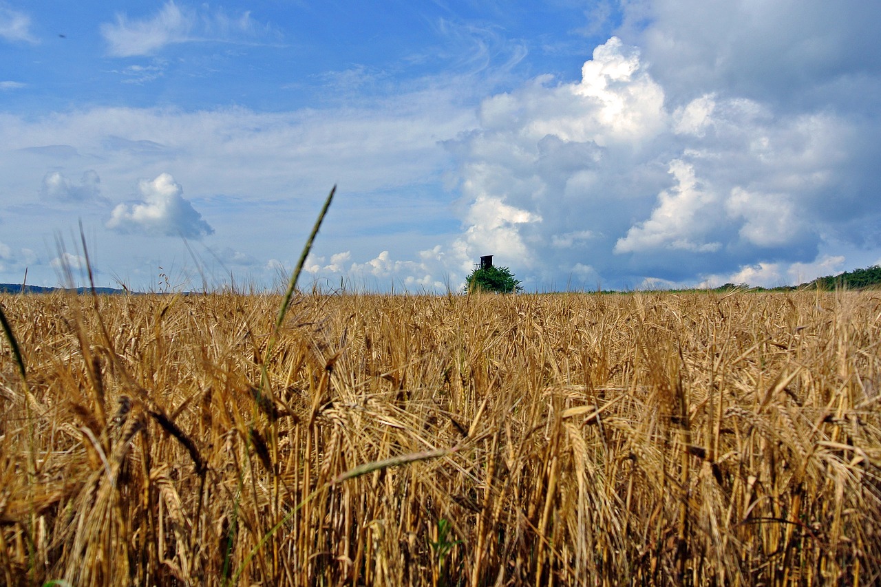
[(281, 303), (0, 296), (0, 583), (881, 582), (881, 293)]

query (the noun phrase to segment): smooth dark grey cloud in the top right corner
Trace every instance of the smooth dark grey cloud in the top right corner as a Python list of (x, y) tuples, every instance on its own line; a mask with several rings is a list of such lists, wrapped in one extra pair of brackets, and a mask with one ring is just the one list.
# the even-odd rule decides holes
[(849, 109), (862, 98), (844, 93), (877, 89), (881, 4), (651, 0), (623, 6), (622, 35), (643, 48), (677, 104), (721, 90), (790, 111)]

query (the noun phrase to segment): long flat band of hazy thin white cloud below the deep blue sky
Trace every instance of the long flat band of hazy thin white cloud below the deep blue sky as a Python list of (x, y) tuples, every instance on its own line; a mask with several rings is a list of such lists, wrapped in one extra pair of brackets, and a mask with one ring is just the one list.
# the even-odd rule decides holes
[[(441, 181), (452, 167), (441, 141), (474, 124), (469, 109), (452, 103), (455, 92), (325, 111), (94, 108), (38, 120), (0, 115), (0, 138), (7, 152), (63, 144), (107, 161), (113, 174), (98, 168), (105, 194), (121, 192), (122, 182), (138, 175), (167, 171), (188, 190), (252, 201), (291, 197), (292, 187), (299, 195), (326, 194), (334, 182), (341, 192), (412, 189)], [(15, 164), (0, 160), (0, 168)]]

